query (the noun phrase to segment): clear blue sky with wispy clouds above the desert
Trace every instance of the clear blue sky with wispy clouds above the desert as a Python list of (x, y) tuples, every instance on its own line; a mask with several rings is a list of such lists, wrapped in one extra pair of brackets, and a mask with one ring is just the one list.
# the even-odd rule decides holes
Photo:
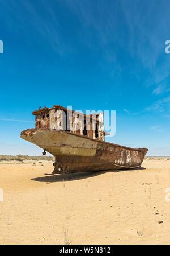
[(169, 1), (0, 0), (0, 154), (41, 155), (20, 139), (32, 110), (116, 110), (107, 141), (170, 155)]

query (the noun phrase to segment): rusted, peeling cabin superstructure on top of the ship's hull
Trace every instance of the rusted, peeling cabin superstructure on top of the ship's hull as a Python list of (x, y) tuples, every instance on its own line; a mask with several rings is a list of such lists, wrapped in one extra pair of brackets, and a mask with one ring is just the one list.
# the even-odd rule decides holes
[(69, 130), (77, 135), (104, 141), (103, 113), (88, 116), (71, 110), (71, 115), (68, 116), (69, 111), (59, 105), (33, 111), (36, 115), (36, 128)]

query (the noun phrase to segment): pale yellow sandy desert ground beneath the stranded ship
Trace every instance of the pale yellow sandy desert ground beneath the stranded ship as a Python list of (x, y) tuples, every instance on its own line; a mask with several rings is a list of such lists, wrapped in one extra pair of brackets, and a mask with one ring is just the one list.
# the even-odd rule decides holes
[(170, 160), (45, 176), (52, 163), (0, 163), (1, 244), (170, 243)]

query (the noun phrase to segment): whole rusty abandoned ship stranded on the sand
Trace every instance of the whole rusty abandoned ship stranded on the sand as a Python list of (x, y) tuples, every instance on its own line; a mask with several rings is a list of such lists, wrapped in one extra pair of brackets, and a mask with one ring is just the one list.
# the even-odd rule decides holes
[[(62, 114), (58, 114), (59, 111), (64, 113), (65, 123)], [(74, 113), (68, 118), (69, 112), (70, 110), (59, 105), (35, 110), (35, 129), (27, 129), (21, 133), (21, 138), (55, 156), (53, 174), (141, 167), (148, 149), (105, 142), (102, 113), (97, 115), (95, 129), (92, 129), (93, 115), (76, 112), (76, 115)], [(79, 129), (75, 129), (78, 125), (77, 117), (82, 118)], [(69, 122), (76, 125), (69, 126)], [(91, 127), (88, 130), (86, 122)]]

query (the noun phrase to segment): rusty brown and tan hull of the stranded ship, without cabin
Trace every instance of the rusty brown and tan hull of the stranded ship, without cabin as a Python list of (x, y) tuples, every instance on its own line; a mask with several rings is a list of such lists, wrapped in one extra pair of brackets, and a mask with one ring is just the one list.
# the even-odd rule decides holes
[(28, 129), (21, 138), (55, 156), (54, 174), (141, 167), (147, 148), (130, 148), (66, 131)]

